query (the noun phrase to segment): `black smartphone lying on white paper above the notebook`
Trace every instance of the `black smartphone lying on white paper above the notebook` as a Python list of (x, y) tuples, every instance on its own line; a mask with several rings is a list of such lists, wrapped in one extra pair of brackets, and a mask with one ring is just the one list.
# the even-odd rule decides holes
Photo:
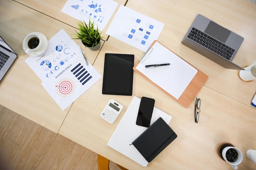
[(137, 116), (136, 124), (139, 126), (149, 127), (153, 109), (154, 109), (155, 99), (148, 97), (141, 97), (141, 102), (139, 104), (139, 112)]

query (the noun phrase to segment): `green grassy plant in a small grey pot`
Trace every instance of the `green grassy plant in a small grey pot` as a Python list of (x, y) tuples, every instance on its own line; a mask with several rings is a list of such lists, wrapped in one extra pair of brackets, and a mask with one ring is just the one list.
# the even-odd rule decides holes
[(74, 35), (76, 35), (76, 38), (73, 39), (80, 39), (82, 43), (85, 45), (85, 48), (88, 47), (92, 51), (96, 51), (101, 47), (101, 33), (99, 33), (98, 25), (97, 29), (94, 29), (94, 21), (91, 22), (89, 18), (89, 24), (87, 25), (84, 21), (77, 22), (77, 29), (79, 29), (79, 32), (76, 31)]

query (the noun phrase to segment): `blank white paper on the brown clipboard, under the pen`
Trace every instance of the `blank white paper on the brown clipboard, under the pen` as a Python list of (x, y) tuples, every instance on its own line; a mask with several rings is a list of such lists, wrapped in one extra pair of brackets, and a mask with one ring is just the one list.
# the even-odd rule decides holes
[[(170, 65), (152, 68), (145, 67), (146, 65), (164, 63), (170, 63)], [(197, 69), (159, 42), (155, 42), (153, 51), (144, 62), (139, 63), (136, 69), (176, 99), (180, 98), (198, 72)]]

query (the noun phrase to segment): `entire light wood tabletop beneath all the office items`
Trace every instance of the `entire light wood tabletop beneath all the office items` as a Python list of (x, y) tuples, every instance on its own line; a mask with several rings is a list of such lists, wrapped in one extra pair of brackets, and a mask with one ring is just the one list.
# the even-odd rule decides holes
[[(238, 71), (222, 68), (181, 44), (195, 16), (201, 13), (242, 35), (245, 40), (234, 62), (240, 66), (252, 64), (256, 60), (256, 4), (246, 0), (165, 0), (161, 3), (154, 0), (128, 0), (127, 7), (165, 24), (159, 42), (208, 75), (209, 79), (197, 95), (201, 99), (201, 112), (196, 124), (193, 102), (188, 108), (182, 107), (136, 72), (132, 96), (102, 95), (101, 78), (72, 106), (62, 111), (25, 63), (29, 56), (22, 50), (22, 40), (34, 31), (45, 34), (48, 40), (61, 29), (68, 34), (73, 33), (76, 19), (61, 12), (65, 2), (0, 1), (0, 35), (18, 53), (17, 60), (0, 82), (1, 105), (128, 169), (231, 170), (232, 167), (220, 159), (217, 152), (220, 144), (225, 142), (242, 151), (244, 158), (239, 169), (256, 168), (256, 164), (245, 156), (247, 150), (256, 149), (256, 108), (251, 106), (256, 93), (256, 81), (243, 82), (238, 78)], [(119, 5), (123, 2), (125, 4), (125, 1), (120, 1)], [(229, 20), (231, 16), (234, 19)], [(75, 42), (81, 45), (78, 40)], [(85, 49), (85, 53), (101, 75), (105, 53), (135, 54), (135, 62), (143, 54), (112, 37), (103, 41), (100, 51)], [(169, 126), (178, 136), (148, 167), (141, 167), (107, 146), (133, 96), (154, 98), (155, 107), (173, 117)], [(124, 106), (114, 124), (100, 117), (111, 98)]]

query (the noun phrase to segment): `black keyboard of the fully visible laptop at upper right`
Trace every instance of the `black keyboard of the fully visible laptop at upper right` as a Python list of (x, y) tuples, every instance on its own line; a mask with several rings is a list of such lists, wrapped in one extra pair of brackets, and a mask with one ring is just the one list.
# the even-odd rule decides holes
[(223, 44), (222, 42), (212, 38), (208, 34), (195, 29), (194, 27), (191, 29), (188, 38), (193, 40), (194, 42), (204, 46), (205, 48), (211, 50), (213, 53), (216, 53), (227, 60), (230, 60), (233, 53), (235, 52), (234, 49), (231, 47)]

